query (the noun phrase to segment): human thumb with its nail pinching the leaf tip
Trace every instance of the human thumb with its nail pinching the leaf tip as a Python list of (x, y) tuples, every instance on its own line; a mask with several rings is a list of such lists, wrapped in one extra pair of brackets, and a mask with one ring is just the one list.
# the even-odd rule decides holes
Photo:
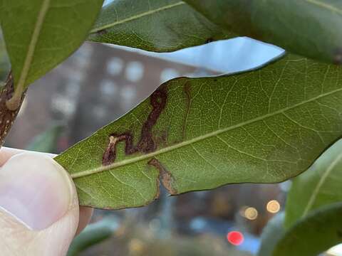
[(73, 181), (49, 156), (17, 154), (2, 166), (1, 255), (66, 255), (78, 214)]

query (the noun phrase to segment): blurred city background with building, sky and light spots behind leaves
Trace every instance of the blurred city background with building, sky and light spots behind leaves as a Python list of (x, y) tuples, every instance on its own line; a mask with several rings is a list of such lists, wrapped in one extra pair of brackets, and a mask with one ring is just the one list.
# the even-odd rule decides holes
[[(249, 38), (175, 53), (84, 43), (29, 87), (5, 146), (58, 154), (131, 110), (162, 82), (248, 70), (282, 52)], [(0, 40), (1, 82), (8, 71)], [(164, 191), (144, 208), (95, 210), (94, 224), (69, 255), (253, 255), (264, 225), (284, 209), (288, 189), (289, 182), (229, 185), (175, 197)]]

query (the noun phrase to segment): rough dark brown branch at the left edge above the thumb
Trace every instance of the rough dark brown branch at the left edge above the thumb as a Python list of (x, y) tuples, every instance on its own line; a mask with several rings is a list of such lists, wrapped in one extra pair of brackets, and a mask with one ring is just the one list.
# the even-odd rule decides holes
[(14, 94), (14, 80), (12, 73), (10, 72), (7, 76), (4, 87), (1, 88), (0, 92), (0, 146), (4, 144), (6, 135), (16, 119), (16, 115), (18, 114), (21, 103), (24, 100), (26, 95), (26, 91), (21, 95), (19, 107), (16, 110), (9, 110), (6, 106), (6, 101), (11, 99)]

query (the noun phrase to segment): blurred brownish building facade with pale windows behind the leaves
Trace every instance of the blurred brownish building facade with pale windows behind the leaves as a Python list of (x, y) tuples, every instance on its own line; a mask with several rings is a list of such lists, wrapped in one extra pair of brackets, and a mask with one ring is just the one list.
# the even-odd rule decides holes
[(28, 88), (6, 140), (24, 148), (52, 121), (66, 124), (60, 150), (88, 137), (148, 97), (162, 82), (200, 71), (104, 44), (84, 43), (76, 53)]

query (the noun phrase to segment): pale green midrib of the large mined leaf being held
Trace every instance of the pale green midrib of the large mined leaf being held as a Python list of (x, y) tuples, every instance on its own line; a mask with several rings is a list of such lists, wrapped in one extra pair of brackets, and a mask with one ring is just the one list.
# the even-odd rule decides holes
[(230, 127), (224, 128), (224, 129), (217, 129), (214, 132), (209, 132), (208, 134), (204, 134), (202, 136), (195, 137), (195, 138), (189, 139), (187, 141), (180, 142), (178, 144), (173, 144), (172, 146), (167, 146), (167, 147), (159, 149), (157, 151), (153, 151), (153, 152), (151, 152), (149, 154), (144, 154), (144, 155), (141, 155), (141, 156), (136, 156), (136, 157), (133, 157), (133, 158), (130, 158), (130, 159), (126, 159), (126, 160), (123, 160), (123, 161), (116, 161), (113, 164), (110, 164), (108, 166), (99, 166), (97, 168), (89, 169), (87, 171), (80, 171), (78, 173), (71, 174), (71, 177), (72, 178), (81, 178), (81, 177), (84, 177), (84, 176), (89, 176), (89, 175), (92, 175), (92, 174), (97, 174), (97, 173), (100, 173), (102, 171), (107, 171), (107, 170), (110, 170), (110, 169), (115, 169), (115, 168), (120, 167), (120, 166), (125, 166), (125, 165), (128, 165), (128, 164), (133, 164), (135, 162), (142, 161), (144, 159), (149, 159), (149, 158), (151, 158), (153, 156), (157, 156), (157, 155), (160, 155), (160, 154), (164, 154), (164, 153), (170, 152), (170, 151), (175, 150), (175, 149), (179, 149), (179, 148), (181, 148), (183, 146), (187, 146), (187, 145), (190, 145), (192, 143), (202, 141), (203, 139), (207, 139), (209, 137), (216, 137), (217, 135), (222, 134), (223, 132), (228, 132), (229, 130), (236, 129), (236, 128), (239, 128), (239, 127), (243, 127), (244, 125), (252, 124), (253, 122), (258, 122), (258, 121), (260, 121), (262, 119), (266, 119), (268, 117), (273, 117), (276, 114), (281, 114), (282, 112), (286, 112), (287, 110), (294, 109), (295, 107), (299, 107), (299, 106), (304, 105), (306, 103), (313, 102), (315, 100), (320, 99), (321, 97), (326, 97), (328, 95), (331, 95), (331, 94), (339, 92), (339, 91), (342, 91), (342, 88), (333, 90), (331, 92), (323, 93), (321, 95), (318, 95), (316, 97), (311, 98), (310, 100), (304, 100), (303, 102), (300, 102), (300, 103), (297, 103), (295, 105), (292, 105), (291, 107), (284, 107), (281, 110), (277, 110), (277, 111), (272, 112), (272, 113), (264, 114), (264, 115), (262, 115), (260, 117), (256, 117), (254, 119), (250, 119), (248, 121), (241, 122), (239, 124), (234, 124), (234, 125), (232, 125)]

